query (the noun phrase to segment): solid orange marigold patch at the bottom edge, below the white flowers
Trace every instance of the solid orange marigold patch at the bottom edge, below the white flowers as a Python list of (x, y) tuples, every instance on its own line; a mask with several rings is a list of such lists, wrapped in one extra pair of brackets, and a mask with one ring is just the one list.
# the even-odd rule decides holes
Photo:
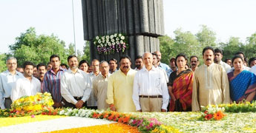
[(59, 130), (59, 131), (53, 131), (51, 133), (77, 133), (77, 132), (83, 132), (83, 133), (140, 133), (136, 127), (128, 126), (123, 123), (111, 123), (111, 124), (105, 124), (105, 125), (99, 125), (99, 126), (88, 126), (88, 127), (82, 127), (82, 128), (74, 128), (74, 129), (65, 129), (65, 130)]

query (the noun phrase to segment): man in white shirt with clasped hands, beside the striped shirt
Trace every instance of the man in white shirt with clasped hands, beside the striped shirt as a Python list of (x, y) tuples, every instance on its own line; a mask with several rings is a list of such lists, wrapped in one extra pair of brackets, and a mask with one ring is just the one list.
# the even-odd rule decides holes
[(78, 69), (76, 55), (68, 56), (68, 71), (61, 77), (61, 94), (66, 100), (65, 107), (82, 108), (91, 94), (91, 79)]

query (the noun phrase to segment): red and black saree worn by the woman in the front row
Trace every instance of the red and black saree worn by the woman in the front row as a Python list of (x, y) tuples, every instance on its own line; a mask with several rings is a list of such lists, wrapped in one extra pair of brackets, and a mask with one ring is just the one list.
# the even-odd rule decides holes
[[(170, 101), (170, 112), (174, 111), (191, 111), (192, 102), (192, 89), (193, 89), (193, 72), (183, 71), (175, 78), (172, 93), (176, 98)], [(179, 105), (180, 104), (180, 105)], [(179, 108), (179, 109), (177, 109)]]

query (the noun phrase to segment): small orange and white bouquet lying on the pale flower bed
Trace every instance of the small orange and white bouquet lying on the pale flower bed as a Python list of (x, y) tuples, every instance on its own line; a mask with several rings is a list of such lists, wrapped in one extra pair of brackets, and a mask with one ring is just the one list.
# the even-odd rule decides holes
[(221, 120), (225, 116), (225, 108), (219, 108), (218, 106), (201, 106), (202, 116), (200, 120)]

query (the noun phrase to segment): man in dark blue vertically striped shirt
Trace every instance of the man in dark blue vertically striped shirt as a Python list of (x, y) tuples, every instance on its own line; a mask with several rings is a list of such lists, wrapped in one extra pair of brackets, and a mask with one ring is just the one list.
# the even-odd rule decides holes
[(62, 107), (62, 95), (60, 91), (61, 83), (60, 79), (66, 69), (62, 69), (60, 66), (59, 55), (50, 56), (51, 69), (45, 73), (44, 81), (42, 83), (42, 92), (49, 92), (53, 98), (53, 107)]

